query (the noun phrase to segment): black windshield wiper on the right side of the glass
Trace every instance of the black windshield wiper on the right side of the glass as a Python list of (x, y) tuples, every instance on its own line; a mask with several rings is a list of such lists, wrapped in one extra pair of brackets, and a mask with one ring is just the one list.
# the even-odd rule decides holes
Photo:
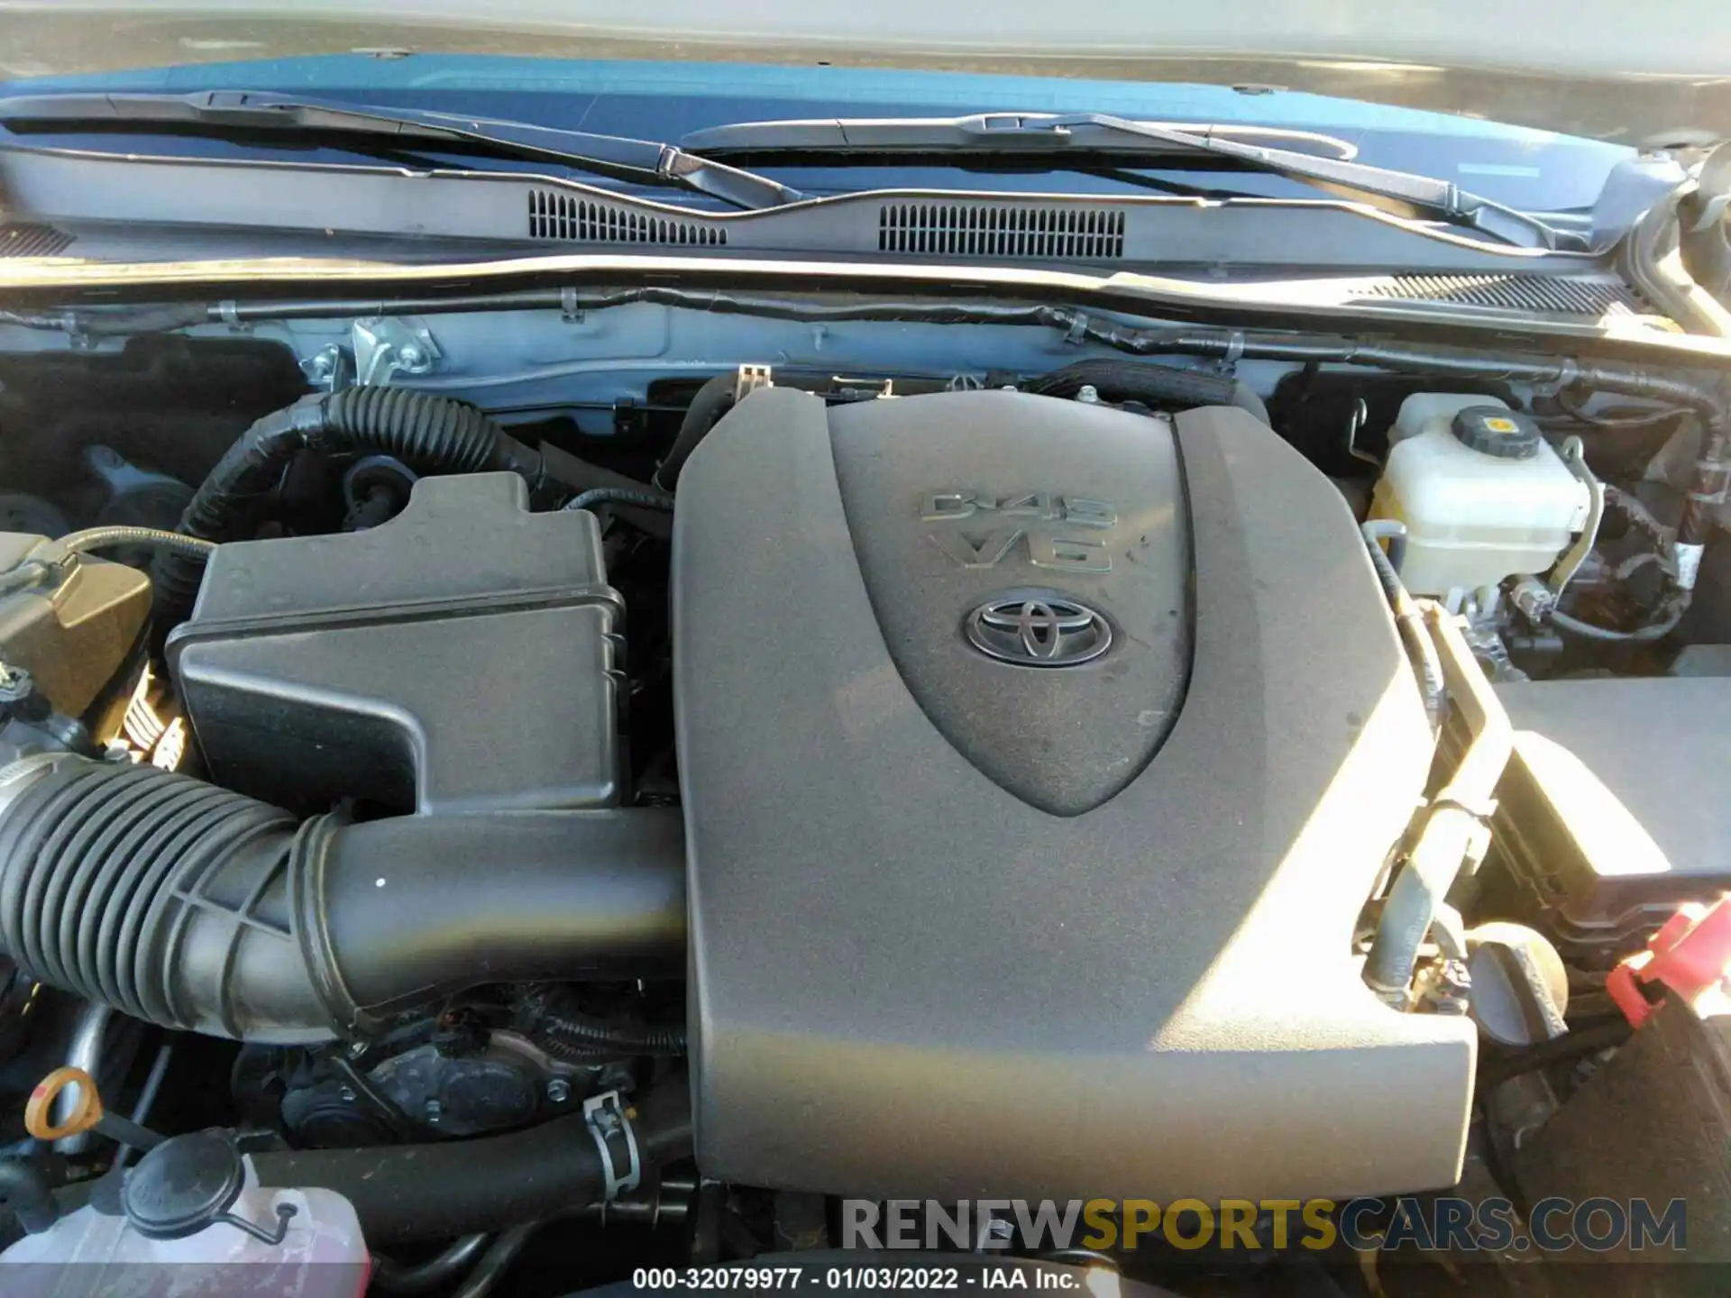
[(687, 135), (680, 147), (708, 156), (1056, 156), (1082, 164), (1091, 156), (1217, 157), (1243, 170), (1307, 182), (1399, 216), (1466, 227), (1522, 247), (1579, 246), (1579, 235), (1558, 232), (1523, 211), (1468, 194), (1451, 180), (1369, 166), (1355, 161), (1357, 149), (1336, 137), (1269, 126), (1193, 126), (1132, 121), (1106, 112), (829, 118), (711, 126)]

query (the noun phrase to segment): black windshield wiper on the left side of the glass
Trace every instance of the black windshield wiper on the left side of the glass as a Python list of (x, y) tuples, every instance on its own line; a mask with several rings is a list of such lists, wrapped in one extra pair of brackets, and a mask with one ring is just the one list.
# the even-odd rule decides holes
[(805, 197), (796, 189), (769, 177), (741, 171), (711, 157), (698, 157), (673, 144), (537, 126), (526, 121), (462, 118), (426, 109), (353, 106), (256, 90), (206, 90), (192, 95), (73, 92), (0, 97), (0, 125), (62, 123), (81, 126), (161, 123), (164, 126), (344, 133), (374, 147), (391, 140), (402, 140), (405, 147), (428, 147), (440, 142), (471, 149), (479, 145), (500, 157), (561, 163), (651, 185), (691, 189), (736, 208), (779, 208)]

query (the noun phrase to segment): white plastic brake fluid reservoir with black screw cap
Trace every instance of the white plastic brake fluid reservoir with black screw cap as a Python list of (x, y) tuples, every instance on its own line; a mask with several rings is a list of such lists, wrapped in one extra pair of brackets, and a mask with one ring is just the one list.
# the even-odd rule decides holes
[(1549, 569), (1587, 507), (1586, 485), (1525, 415), (1494, 396), (1414, 393), (1388, 434), (1371, 517), (1406, 523), (1407, 590), (1454, 606)]

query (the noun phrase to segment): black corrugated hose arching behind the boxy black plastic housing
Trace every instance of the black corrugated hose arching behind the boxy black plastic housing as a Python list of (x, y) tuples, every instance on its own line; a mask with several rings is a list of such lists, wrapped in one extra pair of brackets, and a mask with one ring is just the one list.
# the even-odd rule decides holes
[[(235, 540), (253, 504), (275, 490), (303, 450), (393, 455), (421, 474), (476, 472), (509, 459), (499, 426), (473, 405), (407, 388), (348, 388), (303, 396), (249, 427), (228, 447), (180, 516), (180, 531)], [(500, 462), (499, 467), (509, 467)], [(159, 554), (151, 568), (158, 635), (182, 621), (197, 597), (204, 559)]]

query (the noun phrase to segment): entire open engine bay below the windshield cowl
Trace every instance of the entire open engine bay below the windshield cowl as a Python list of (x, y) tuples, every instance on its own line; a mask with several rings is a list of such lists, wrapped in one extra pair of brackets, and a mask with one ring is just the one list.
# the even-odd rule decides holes
[(17, 1248), (284, 1187), (379, 1291), (552, 1295), (1567, 1180), (1731, 886), (1710, 379), (618, 312), (0, 334)]

